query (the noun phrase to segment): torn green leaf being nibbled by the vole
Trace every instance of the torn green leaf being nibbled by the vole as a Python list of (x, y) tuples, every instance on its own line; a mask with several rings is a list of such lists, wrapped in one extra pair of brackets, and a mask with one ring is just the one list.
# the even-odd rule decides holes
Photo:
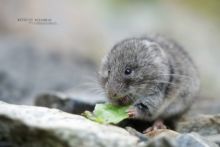
[(128, 118), (129, 106), (115, 106), (109, 103), (96, 104), (93, 113), (85, 111), (82, 115), (90, 120), (103, 124), (117, 124)]

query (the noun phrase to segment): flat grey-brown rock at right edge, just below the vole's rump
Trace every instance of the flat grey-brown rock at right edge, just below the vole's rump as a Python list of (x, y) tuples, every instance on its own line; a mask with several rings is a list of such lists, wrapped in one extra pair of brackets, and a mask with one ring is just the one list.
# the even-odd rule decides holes
[(202, 136), (220, 134), (220, 114), (185, 119), (177, 124), (176, 130), (181, 133), (197, 132)]

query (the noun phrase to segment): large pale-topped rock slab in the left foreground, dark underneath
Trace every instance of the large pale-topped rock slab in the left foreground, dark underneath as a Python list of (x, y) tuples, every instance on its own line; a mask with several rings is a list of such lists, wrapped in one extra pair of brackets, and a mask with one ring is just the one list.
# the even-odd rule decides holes
[[(0, 142), (19, 147), (133, 147), (126, 130), (56, 109), (0, 102)], [(1, 145), (1, 144), (0, 144)]]

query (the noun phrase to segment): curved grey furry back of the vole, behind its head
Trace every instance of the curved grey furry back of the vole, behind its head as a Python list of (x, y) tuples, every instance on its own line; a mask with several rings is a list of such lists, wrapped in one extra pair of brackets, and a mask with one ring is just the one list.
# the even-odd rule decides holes
[(161, 110), (160, 117), (178, 117), (189, 109), (199, 91), (200, 81), (197, 69), (188, 53), (173, 40), (161, 36), (145, 39), (161, 46), (167, 55), (171, 70), (170, 84), (165, 90), (167, 101), (164, 103), (165, 111)]

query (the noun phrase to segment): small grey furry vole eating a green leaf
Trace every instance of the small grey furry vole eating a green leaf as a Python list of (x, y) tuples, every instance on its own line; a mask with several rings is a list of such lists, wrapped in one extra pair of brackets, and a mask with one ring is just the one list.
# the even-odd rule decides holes
[(150, 129), (163, 128), (163, 120), (184, 114), (200, 85), (188, 53), (161, 35), (117, 43), (101, 63), (99, 79), (111, 103), (132, 104), (128, 115), (154, 121)]

